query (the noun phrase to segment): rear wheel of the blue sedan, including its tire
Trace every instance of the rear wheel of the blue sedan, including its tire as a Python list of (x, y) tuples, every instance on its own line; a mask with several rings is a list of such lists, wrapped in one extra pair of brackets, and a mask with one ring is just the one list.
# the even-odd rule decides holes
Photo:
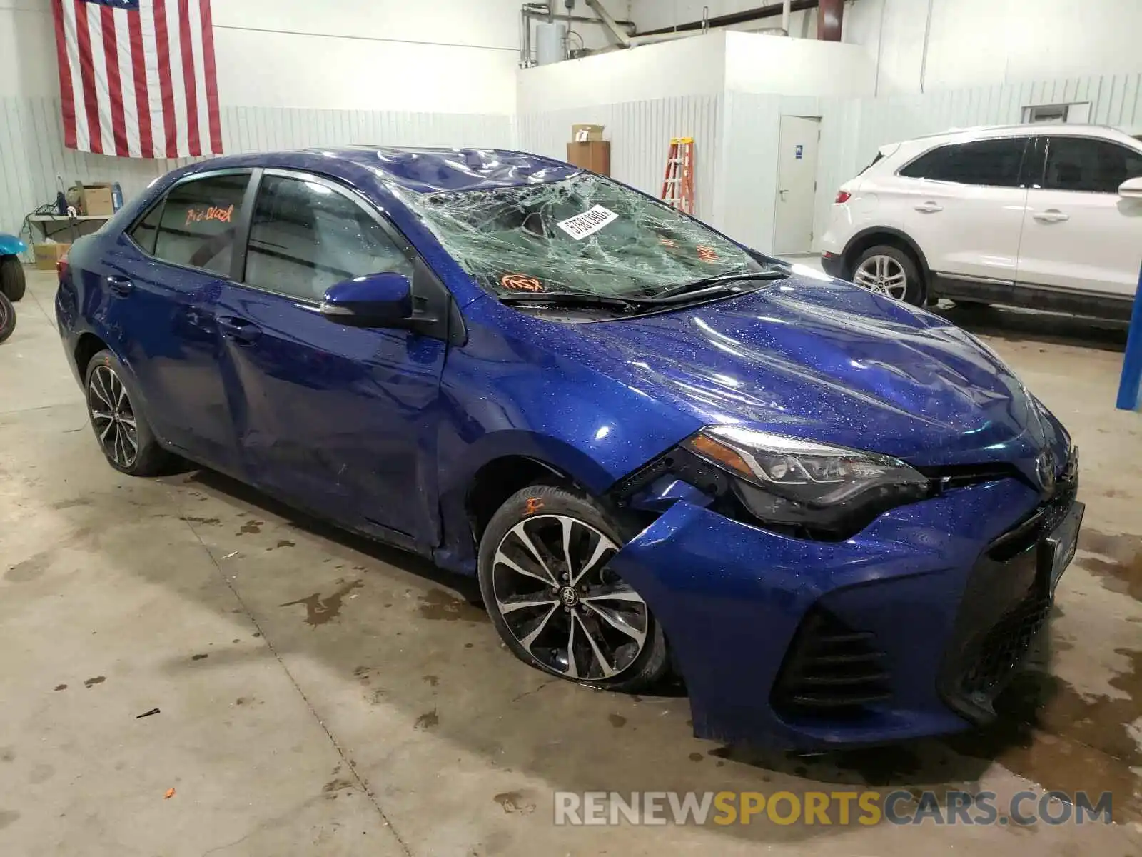
[(88, 418), (107, 464), (131, 476), (156, 476), (166, 472), (170, 455), (154, 436), (127, 378), (111, 351), (91, 358), (83, 376)]

